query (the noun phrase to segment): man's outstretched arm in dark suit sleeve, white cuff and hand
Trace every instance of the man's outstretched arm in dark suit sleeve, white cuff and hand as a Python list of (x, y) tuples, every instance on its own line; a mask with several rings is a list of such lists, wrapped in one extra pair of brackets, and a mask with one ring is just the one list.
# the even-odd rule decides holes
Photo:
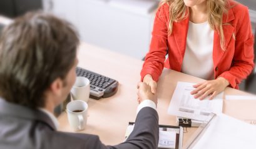
[[(156, 95), (151, 93), (150, 86), (138, 84), (138, 114), (133, 132), (127, 140), (119, 145), (105, 146), (98, 136), (91, 135), (91, 141), (85, 148), (95, 149), (156, 149), (159, 139), (158, 113), (156, 112)], [(111, 135), (110, 135), (111, 137)]]

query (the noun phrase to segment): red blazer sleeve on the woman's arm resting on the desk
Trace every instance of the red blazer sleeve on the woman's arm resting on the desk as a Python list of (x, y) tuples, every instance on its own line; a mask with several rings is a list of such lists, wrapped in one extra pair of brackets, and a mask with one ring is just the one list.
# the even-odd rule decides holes
[[(245, 11), (243, 11), (245, 10)], [(235, 53), (230, 70), (223, 72), (219, 77), (224, 77), (230, 86), (238, 89), (238, 84), (252, 72), (254, 63), (253, 35), (248, 8), (240, 12), (240, 17), (235, 33)]]

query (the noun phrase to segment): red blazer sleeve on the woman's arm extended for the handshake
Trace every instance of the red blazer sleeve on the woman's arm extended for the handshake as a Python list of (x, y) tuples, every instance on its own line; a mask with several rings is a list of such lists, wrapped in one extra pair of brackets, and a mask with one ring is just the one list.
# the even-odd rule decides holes
[(168, 38), (168, 4), (158, 8), (152, 31), (150, 51), (146, 54), (145, 62), (141, 70), (141, 81), (146, 74), (150, 74), (153, 80), (158, 81), (164, 67)]

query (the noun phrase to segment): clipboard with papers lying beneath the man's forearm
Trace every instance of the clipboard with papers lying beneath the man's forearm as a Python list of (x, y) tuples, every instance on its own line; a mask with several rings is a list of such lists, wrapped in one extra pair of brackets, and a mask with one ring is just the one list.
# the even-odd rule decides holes
[[(134, 122), (129, 122), (128, 127), (126, 129), (125, 139), (129, 137), (130, 133), (133, 130)], [(183, 143), (183, 127), (177, 127), (172, 125), (159, 125), (159, 141), (158, 141), (158, 148), (169, 148), (169, 149), (182, 149), (182, 143)], [(165, 135), (168, 133), (172, 133), (172, 135), (175, 135), (175, 142), (170, 141), (168, 139), (164, 139), (162, 135)], [(175, 133), (175, 134), (173, 134)], [(163, 139), (161, 139), (163, 138)], [(173, 147), (170, 147), (173, 146)]]

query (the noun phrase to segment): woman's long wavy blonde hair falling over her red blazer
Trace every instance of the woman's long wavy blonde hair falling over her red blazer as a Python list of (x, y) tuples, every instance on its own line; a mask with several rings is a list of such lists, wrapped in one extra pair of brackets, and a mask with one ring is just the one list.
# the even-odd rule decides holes
[[(222, 17), (227, 13), (227, 0), (206, 0), (207, 1), (207, 16), (210, 27), (218, 31), (220, 34), (220, 45), (225, 50), (225, 37), (222, 27)], [(168, 26), (168, 35), (172, 34), (173, 22), (181, 21), (188, 17), (188, 7), (183, 0), (161, 0), (160, 6), (163, 4), (170, 6), (170, 20)]]

